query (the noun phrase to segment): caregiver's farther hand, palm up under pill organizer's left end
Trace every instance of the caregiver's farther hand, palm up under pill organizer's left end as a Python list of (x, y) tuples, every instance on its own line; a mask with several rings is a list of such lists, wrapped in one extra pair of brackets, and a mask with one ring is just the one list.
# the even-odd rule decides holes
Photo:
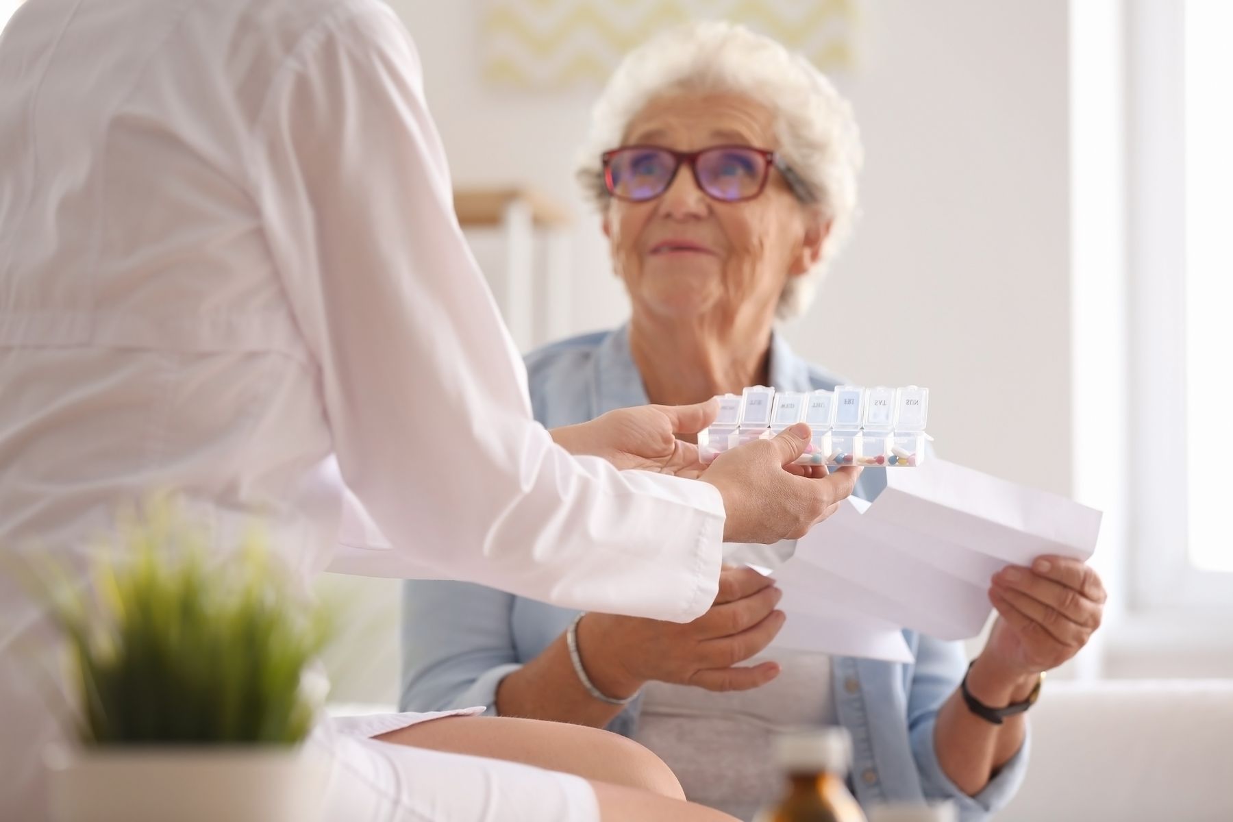
[(718, 410), (714, 399), (693, 405), (618, 408), (589, 423), (555, 428), (550, 434), (570, 454), (603, 457), (621, 470), (697, 478), (705, 470), (698, 460), (698, 446), (678, 440), (677, 434), (697, 434), (710, 425)]

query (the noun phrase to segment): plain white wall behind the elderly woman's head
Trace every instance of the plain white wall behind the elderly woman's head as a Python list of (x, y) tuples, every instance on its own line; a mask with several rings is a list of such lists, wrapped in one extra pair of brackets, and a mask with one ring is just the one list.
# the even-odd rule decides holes
[[(480, 75), (480, 1), (391, 0), (416, 37), (459, 184), (530, 182), (578, 211), (573, 330), (620, 322), (571, 175), (593, 92)], [(798, 350), (854, 381), (932, 389), (943, 456), (1069, 493), (1067, 4), (877, 0), (836, 78), (867, 147), (863, 218)]]

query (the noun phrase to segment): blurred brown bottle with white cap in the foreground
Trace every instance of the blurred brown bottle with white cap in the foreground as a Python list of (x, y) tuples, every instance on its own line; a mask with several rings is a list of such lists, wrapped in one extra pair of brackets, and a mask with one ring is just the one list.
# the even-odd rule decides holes
[(776, 762), (787, 780), (778, 804), (755, 822), (866, 822), (843, 778), (852, 754), (843, 728), (792, 731), (776, 737)]

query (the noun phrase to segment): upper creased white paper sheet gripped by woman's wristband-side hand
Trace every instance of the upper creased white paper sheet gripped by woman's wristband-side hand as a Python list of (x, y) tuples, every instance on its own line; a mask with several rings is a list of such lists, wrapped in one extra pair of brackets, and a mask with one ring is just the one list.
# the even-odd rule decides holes
[(984, 627), (989, 578), (1004, 566), (1042, 553), (1088, 560), (1095, 548), (1100, 511), (1063, 497), (943, 460), (887, 473), (874, 503), (845, 500), (798, 541), (776, 574), (806, 603), (795, 608), (827, 601), (965, 640)]

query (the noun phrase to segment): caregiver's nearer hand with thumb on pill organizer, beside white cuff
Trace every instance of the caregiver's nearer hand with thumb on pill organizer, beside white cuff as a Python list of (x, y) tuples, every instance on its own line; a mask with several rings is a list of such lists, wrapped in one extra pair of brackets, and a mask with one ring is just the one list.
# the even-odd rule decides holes
[(703, 482), (724, 497), (724, 540), (771, 543), (804, 536), (852, 493), (861, 468), (826, 473), (822, 466), (792, 465), (809, 445), (804, 423), (769, 440), (746, 442), (715, 458)]

